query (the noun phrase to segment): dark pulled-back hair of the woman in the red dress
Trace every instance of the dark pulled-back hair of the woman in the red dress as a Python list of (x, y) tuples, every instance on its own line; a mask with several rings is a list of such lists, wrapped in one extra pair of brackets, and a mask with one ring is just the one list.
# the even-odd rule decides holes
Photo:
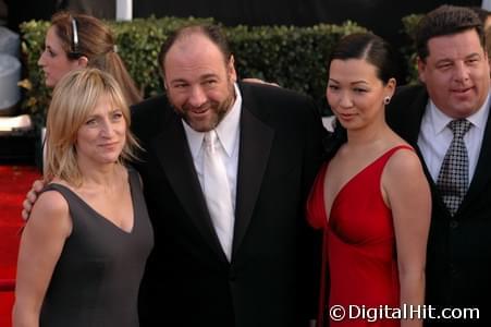
[[(343, 37), (332, 50), (328, 60), (328, 74), (333, 60), (363, 59), (376, 68), (377, 77), (385, 85), (397, 76), (397, 59), (391, 45), (372, 33), (355, 33)], [(334, 120), (334, 132), (327, 147), (332, 157), (347, 141), (346, 130)]]

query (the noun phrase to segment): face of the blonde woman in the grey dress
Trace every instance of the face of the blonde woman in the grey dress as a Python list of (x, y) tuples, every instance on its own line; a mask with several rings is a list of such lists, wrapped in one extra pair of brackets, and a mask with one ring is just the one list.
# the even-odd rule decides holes
[(126, 142), (126, 128), (122, 109), (109, 96), (102, 96), (78, 129), (75, 145), (78, 165), (96, 167), (115, 162)]

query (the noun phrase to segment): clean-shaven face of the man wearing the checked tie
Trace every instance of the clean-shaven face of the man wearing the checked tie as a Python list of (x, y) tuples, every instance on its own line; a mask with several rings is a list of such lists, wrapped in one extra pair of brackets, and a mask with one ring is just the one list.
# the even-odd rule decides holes
[(484, 104), (490, 87), (488, 55), (475, 29), (433, 37), (426, 62), (418, 61), (419, 77), (430, 98), (445, 114), (458, 119)]

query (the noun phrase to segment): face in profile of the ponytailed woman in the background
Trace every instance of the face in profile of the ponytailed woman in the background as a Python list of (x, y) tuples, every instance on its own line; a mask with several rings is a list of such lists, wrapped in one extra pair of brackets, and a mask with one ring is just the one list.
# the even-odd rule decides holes
[(54, 87), (67, 72), (79, 68), (77, 60), (70, 60), (66, 57), (54, 26), (46, 34), (45, 50), (37, 63), (45, 73), (45, 83), (48, 87)]

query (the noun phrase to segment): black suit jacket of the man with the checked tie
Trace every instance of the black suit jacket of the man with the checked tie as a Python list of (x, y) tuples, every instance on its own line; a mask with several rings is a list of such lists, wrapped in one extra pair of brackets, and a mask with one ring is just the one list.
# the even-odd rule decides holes
[[(422, 85), (397, 90), (388, 122), (415, 148), (428, 93)], [(418, 152), (419, 153), (419, 152)], [(419, 153), (420, 155), (420, 153)], [(425, 162), (421, 157), (421, 161)], [(424, 165), (432, 193), (427, 256), (427, 304), (479, 307), (480, 324), (491, 326), (491, 125), (486, 124), (478, 164), (468, 192), (452, 217)], [(437, 320), (428, 320), (435, 323)], [(451, 322), (442, 322), (449, 325)], [(461, 320), (465, 326), (472, 320)], [(464, 326), (463, 325), (463, 326)]]

